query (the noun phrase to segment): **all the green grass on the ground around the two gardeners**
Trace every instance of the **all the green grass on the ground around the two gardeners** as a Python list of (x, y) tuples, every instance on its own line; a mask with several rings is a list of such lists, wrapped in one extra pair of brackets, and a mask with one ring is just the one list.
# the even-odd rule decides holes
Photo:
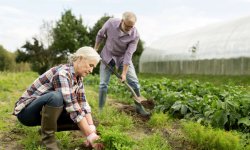
[[(39, 127), (23, 126), (11, 115), (15, 102), (37, 76), (38, 74), (33, 72), (0, 73), (0, 149), (43, 149), (39, 144), (40, 136), (37, 132)], [(247, 76), (139, 75), (139, 78), (144, 79), (160, 79), (163, 77), (170, 79), (197, 79), (204, 82), (213, 81), (214, 84), (218, 85), (228, 83), (233, 85), (240, 84), (245, 87), (250, 85), (250, 80)], [(171, 149), (171, 146), (181, 144), (181, 142), (187, 139), (190, 140), (191, 145), (193, 143), (197, 148), (203, 149), (226, 149), (225, 147), (238, 149), (242, 147), (238, 133), (235, 134), (207, 128), (197, 125), (196, 123), (184, 124), (183, 131), (181, 131), (181, 129), (177, 129), (176, 125), (173, 124), (175, 121), (169, 118), (168, 115), (162, 113), (153, 113), (147, 123), (138, 122), (134, 117), (118, 111), (111, 105), (112, 103), (109, 102), (109, 100), (107, 100), (103, 112), (99, 114), (97, 109), (98, 88), (96, 88), (98, 87), (98, 83), (99, 82), (96, 81), (95, 86), (85, 86), (86, 96), (92, 107), (97, 129), (103, 135), (102, 140), (106, 143), (107, 147), (111, 149), (168, 150)], [(115, 93), (112, 94), (112, 98), (116, 100), (120, 99)], [(179, 124), (178, 121), (177, 124)], [(173, 137), (166, 138), (166, 136), (162, 134), (162, 131), (175, 132), (173, 132)], [(178, 135), (179, 132), (183, 132), (181, 136), (185, 136), (184, 140)], [(76, 131), (59, 132), (56, 133), (56, 136), (60, 141), (62, 149), (81, 149), (82, 142), (85, 140), (82, 134)], [(245, 140), (249, 141), (249, 136), (246, 136)], [(249, 149), (249, 146), (246, 145), (245, 149)]]

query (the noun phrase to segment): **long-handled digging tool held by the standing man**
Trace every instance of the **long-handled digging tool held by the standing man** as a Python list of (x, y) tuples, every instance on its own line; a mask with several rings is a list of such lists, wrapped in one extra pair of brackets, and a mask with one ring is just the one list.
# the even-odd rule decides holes
[[(116, 76), (117, 78), (122, 79), (121, 75), (118, 74), (112, 67), (110, 67), (104, 60), (101, 60), (101, 61), (102, 61), (102, 63), (103, 63), (106, 67), (108, 67), (108, 69), (109, 69), (113, 74), (115, 74), (115, 76)], [(138, 96), (136, 95), (134, 89), (128, 84), (127, 81), (124, 81), (124, 82), (122, 82), (122, 83), (124, 83), (124, 84), (127, 86), (127, 88), (131, 91), (131, 93), (133, 94), (133, 96), (134, 96), (134, 102), (135, 102), (135, 105), (136, 105), (136, 109), (139, 109), (139, 112), (138, 112), (138, 113), (140, 113), (140, 114), (143, 115), (143, 116), (149, 116), (150, 113), (149, 113), (149, 112), (146, 112), (146, 111), (144, 110), (144, 107), (143, 107), (142, 104), (141, 104), (141, 98), (138, 97)]]

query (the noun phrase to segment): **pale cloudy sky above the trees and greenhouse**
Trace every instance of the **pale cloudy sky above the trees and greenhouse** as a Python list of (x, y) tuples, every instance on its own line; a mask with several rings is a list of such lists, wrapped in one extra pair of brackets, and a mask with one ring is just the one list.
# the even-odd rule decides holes
[(104, 14), (132, 11), (147, 47), (163, 36), (250, 16), (250, 0), (0, 0), (0, 45), (16, 51), (68, 9), (88, 27)]

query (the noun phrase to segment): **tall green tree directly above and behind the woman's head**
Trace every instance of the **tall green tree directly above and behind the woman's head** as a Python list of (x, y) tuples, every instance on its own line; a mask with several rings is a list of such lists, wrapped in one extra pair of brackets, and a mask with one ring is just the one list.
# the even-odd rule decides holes
[(53, 64), (65, 63), (69, 53), (89, 44), (87, 27), (83, 25), (81, 16), (77, 19), (71, 10), (66, 10), (53, 29), (53, 43), (50, 47)]

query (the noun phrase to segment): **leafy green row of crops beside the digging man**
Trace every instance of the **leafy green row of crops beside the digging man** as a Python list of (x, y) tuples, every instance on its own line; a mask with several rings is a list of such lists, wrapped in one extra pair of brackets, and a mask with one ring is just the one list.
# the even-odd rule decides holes
[[(90, 76), (84, 82), (98, 89), (99, 77)], [(226, 130), (250, 132), (250, 95), (242, 86), (168, 78), (140, 80), (140, 84), (143, 96), (155, 101), (155, 111)], [(130, 97), (115, 78), (111, 78), (110, 85), (110, 94)]]

